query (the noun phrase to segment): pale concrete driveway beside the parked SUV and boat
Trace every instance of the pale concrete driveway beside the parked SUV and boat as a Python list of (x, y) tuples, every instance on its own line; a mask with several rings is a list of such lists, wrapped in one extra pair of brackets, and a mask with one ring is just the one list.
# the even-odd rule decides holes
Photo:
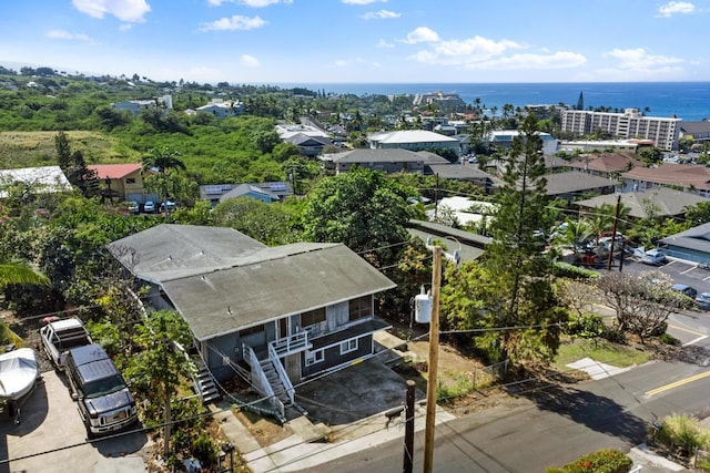
[(135, 454), (148, 442), (144, 433), (88, 442), (63, 377), (54, 371), (42, 373), (22, 405), (21, 419), (19, 425), (7, 417), (0, 420), (0, 473), (91, 473), (97, 462)]

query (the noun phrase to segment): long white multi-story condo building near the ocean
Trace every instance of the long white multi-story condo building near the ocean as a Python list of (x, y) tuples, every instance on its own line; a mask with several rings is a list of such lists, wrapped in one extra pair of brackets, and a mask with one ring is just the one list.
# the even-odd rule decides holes
[(645, 116), (638, 109), (623, 113), (566, 110), (562, 112), (562, 131), (589, 135), (596, 130), (611, 133), (618, 138), (652, 140), (660, 150), (678, 148), (682, 119)]

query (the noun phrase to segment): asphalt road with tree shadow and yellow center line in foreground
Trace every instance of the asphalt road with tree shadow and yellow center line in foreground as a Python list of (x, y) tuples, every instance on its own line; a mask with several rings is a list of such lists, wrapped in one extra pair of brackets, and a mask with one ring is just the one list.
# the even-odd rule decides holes
[[(710, 376), (703, 373), (710, 371), (698, 364), (652, 362), (613, 378), (519, 397), (438, 425), (434, 471), (544, 472), (598, 449), (628, 451), (643, 441), (657, 417), (710, 413)], [(673, 382), (677, 385), (669, 384)], [(420, 432), (415, 438), (414, 471), (422, 469), (423, 444)], [(398, 440), (320, 465), (318, 471), (400, 471), (402, 455)]]

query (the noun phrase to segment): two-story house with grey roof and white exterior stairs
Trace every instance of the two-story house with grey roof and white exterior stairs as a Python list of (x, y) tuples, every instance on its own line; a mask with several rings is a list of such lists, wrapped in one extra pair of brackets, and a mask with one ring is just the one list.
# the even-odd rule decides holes
[(395, 284), (342, 244), (267, 247), (231, 228), (159, 225), (109, 245), (178, 310), (219, 382), (243, 373), (282, 417), (294, 384), (374, 354), (389, 328), (374, 297)]

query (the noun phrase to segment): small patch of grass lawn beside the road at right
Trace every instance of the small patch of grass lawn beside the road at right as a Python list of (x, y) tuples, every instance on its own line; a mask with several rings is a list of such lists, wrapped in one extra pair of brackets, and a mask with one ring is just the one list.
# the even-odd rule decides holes
[(650, 359), (648, 353), (626, 345), (611, 343), (604, 339), (566, 339), (562, 340), (552, 366), (559, 371), (568, 371), (567, 363), (572, 363), (582, 358), (591, 358), (600, 363), (619, 368), (641, 364)]

